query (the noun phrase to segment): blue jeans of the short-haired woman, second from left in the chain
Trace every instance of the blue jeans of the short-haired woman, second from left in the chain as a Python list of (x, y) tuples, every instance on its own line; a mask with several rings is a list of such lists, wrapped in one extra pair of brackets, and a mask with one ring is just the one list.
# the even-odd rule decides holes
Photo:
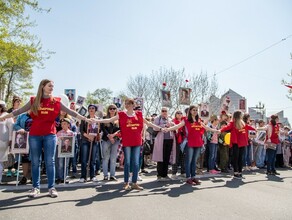
[(132, 182), (136, 183), (139, 172), (139, 157), (141, 146), (136, 147), (123, 147), (124, 150), (124, 182), (129, 182), (130, 166), (133, 166)]

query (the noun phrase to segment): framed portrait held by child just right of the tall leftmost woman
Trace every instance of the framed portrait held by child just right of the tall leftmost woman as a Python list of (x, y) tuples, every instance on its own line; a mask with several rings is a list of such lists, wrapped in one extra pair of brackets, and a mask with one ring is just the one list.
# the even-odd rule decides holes
[(74, 136), (58, 137), (58, 157), (74, 157)]

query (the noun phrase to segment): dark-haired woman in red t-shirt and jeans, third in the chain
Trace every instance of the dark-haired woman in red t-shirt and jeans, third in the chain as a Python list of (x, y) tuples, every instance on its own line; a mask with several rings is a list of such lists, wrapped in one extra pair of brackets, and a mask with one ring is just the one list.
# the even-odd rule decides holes
[(186, 150), (186, 178), (187, 183), (191, 185), (200, 185), (200, 181), (195, 178), (196, 176), (196, 163), (200, 155), (201, 147), (204, 145), (203, 135), (205, 130), (218, 132), (216, 129), (207, 127), (203, 121), (199, 118), (198, 107), (191, 105), (187, 114), (187, 118), (184, 118), (181, 123), (170, 128), (166, 128), (165, 131), (177, 130), (180, 127), (185, 127), (187, 133), (187, 150)]

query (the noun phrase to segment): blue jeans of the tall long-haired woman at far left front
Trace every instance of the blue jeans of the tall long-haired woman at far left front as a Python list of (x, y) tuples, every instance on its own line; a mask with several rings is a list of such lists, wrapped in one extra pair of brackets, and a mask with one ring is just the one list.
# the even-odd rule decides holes
[(40, 188), (40, 171), (42, 162), (42, 150), (44, 149), (44, 160), (48, 177), (48, 188), (55, 185), (55, 152), (57, 137), (55, 134), (45, 136), (29, 136), (29, 146), (32, 167), (32, 182), (34, 188)]

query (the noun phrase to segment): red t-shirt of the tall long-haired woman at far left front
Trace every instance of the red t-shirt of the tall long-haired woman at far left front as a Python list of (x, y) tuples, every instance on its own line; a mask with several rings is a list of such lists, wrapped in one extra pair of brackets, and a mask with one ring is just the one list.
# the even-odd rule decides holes
[[(31, 104), (34, 102), (34, 97), (30, 98)], [(42, 98), (41, 105), (38, 109), (38, 115), (30, 113), (32, 125), (29, 131), (30, 135), (44, 136), (49, 134), (56, 134), (55, 120), (61, 110), (60, 98)]]

